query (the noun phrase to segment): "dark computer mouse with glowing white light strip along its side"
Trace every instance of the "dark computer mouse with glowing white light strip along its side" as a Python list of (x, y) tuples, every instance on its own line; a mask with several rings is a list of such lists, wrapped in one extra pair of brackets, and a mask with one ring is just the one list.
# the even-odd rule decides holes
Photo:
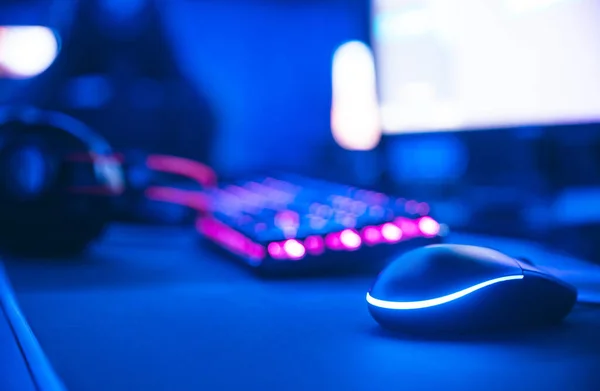
[(401, 255), (367, 293), (384, 328), (454, 333), (559, 323), (577, 290), (532, 262), (476, 246), (438, 244)]

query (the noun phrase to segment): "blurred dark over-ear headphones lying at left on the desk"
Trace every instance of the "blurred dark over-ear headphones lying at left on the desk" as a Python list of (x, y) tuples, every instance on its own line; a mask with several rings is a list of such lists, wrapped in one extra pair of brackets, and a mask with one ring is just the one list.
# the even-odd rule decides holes
[(36, 108), (0, 109), (0, 247), (30, 256), (77, 253), (110, 220), (121, 163), (82, 122)]

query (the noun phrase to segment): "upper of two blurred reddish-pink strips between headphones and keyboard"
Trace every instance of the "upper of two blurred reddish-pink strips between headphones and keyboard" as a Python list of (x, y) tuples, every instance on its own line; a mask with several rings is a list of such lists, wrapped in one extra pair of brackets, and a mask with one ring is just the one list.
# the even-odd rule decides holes
[(213, 186), (217, 183), (217, 175), (205, 164), (177, 156), (150, 155), (146, 159), (148, 168), (186, 176), (196, 180), (203, 186)]

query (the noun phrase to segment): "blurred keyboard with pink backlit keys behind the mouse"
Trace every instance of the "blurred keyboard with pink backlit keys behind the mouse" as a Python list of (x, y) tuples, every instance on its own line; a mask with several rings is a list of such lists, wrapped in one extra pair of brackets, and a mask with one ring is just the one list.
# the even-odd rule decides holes
[(208, 210), (197, 231), (261, 271), (376, 264), (447, 232), (424, 202), (299, 176), (231, 182), (204, 194)]

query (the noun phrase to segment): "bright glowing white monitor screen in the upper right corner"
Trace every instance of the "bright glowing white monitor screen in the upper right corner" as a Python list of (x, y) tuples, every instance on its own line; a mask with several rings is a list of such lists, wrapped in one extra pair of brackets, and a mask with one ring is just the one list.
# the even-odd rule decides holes
[(372, 8), (385, 133), (600, 122), (600, 1)]

